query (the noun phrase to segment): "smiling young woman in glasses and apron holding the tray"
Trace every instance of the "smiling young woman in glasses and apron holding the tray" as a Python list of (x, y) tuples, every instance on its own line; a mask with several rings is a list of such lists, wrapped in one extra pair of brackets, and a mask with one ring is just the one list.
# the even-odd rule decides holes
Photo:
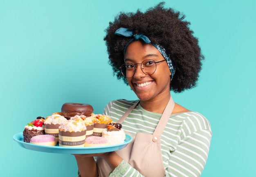
[(202, 173), (212, 134), (209, 121), (175, 103), (170, 90), (196, 86), (203, 56), (190, 23), (163, 6), (162, 2), (145, 13), (120, 13), (106, 30), (113, 71), (139, 100), (111, 101), (103, 114), (122, 123), (133, 141), (116, 152), (75, 155), (81, 177)]

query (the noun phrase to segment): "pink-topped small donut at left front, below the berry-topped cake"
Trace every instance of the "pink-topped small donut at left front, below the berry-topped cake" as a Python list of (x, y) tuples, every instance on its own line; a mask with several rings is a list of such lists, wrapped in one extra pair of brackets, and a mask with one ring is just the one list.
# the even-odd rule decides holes
[(40, 134), (32, 137), (30, 143), (43, 146), (56, 146), (56, 137), (49, 134)]

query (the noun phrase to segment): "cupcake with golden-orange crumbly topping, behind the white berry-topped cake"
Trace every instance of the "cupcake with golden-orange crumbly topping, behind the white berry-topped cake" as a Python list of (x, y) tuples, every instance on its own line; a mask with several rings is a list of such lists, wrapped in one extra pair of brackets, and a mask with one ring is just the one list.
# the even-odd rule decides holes
[(111, 117), (102, 114), (95, 114), (92, 117), (94, 122), (93, 136), (101, 137), (102, 131), (108, 127), (108, 124), (112, 122)]

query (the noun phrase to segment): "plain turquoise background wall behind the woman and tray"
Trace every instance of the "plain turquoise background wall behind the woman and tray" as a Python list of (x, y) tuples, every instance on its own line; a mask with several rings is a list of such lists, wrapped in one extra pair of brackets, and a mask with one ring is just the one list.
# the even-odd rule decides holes
[[(159, 0), (0, 0), (0, 176), (76, 176), (72, 155), (21, 148), (13, 135), (65, 102), (94, 113), (136, 99), (113, 77), (104, 29), (119, 11)], [(191, 21), (205, 55), (198, 87), (175, 102), (204, 114), (213, 137), (202, 177), (256, 176), (256, 1), (168, 0)]]

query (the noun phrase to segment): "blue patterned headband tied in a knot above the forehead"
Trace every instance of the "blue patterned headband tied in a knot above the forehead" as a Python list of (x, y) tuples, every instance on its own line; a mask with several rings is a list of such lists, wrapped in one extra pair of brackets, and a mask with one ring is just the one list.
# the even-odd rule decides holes
[(126, 47), (124, 47), (124, 54), (125, 54), (125, 51), (126, 51), (126, 48), (127, 46), (134, 40), (143, 40), (146, 44), (151, 44), (153, 45), (155, 48), (157, 48), (157, 50), (162, 54), (162, 56), (165, 58), (167, 64), (168, 64), (168, 67), (171, 71), (171, 80), (173, 79), (173, 76), (174, 76), (174, 73), (175, 73), (175, 68), (173, 66), (173, 62), (170, 58), (170, 56), (168, 56), (165, 52), (165, 49), (164, 47), (162, 47), (161, 45), (158, 45), (158, 44), (154, 44), (154, 43), (151, 43), (151, 41), (149, 40), (149, 38), (143, 34), (133, 34), (132, 31), (130, 31), (130, 29), (128, 28), (119, 28), (117, 29), (117, 31), (115, 31), (115, 34), (119, 35), (119, 36), (125, 36), (125, 37), (131, 37), (133, 36), (133, 38), (126, 44)]

